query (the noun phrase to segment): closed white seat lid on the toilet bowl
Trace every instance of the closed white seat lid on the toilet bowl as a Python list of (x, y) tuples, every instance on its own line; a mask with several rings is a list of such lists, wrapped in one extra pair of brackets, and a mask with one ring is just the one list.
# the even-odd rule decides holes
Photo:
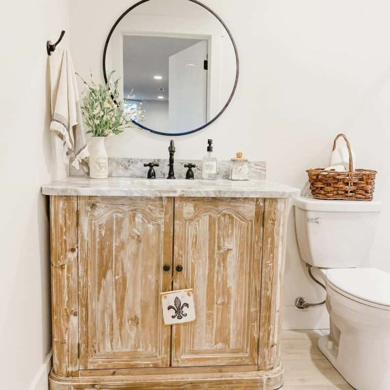
[(390, 274), (375, 268), (342, 268), (327, 272), (327, 282), (352, 297), (390, 307)]

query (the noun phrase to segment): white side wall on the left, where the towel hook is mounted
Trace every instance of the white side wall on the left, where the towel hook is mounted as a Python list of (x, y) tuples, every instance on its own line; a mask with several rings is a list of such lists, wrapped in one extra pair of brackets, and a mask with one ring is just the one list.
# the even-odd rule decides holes
[(67, 31), (67, 0), (7, 2), (0, 15), (0, 376), (2, 388), (47, 389), (50, 259), (41, 185), (56, 167), (49, 137), (46, 40)]

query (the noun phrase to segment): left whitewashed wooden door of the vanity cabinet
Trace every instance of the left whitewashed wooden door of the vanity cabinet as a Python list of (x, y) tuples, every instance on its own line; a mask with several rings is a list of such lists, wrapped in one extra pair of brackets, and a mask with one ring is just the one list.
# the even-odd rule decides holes
[(79, 198), (80, 370), (167, 367), (172, 198)]

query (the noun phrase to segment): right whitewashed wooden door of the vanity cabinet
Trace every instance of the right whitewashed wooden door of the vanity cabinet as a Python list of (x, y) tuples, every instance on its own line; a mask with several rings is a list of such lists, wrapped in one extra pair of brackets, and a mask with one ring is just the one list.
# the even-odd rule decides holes
[(173, 366), (256, 365), (263, 200), (175, 199), (174, 264), (196, 320), (173, 326)]

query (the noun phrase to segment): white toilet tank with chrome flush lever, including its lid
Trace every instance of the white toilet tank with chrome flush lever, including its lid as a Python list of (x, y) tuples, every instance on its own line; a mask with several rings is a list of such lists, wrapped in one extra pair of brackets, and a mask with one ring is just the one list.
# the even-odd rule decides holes
[(313, 267), (369, 267), (380, 202), (296, 198), (295, 221), (302, 259)]

